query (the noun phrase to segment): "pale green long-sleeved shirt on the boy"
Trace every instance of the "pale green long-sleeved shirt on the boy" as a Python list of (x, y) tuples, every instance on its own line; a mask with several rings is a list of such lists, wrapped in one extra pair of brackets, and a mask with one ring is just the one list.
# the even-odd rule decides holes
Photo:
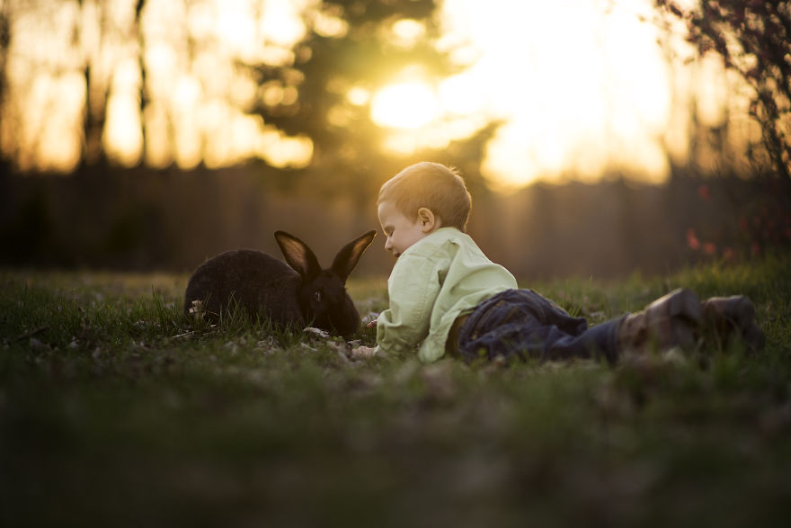
[(516, 287), (513, 275), (490, 261), (472, 238), (456, 228), (437, 229), (409, 246), (393, 266), (387, 279), (390, 308), (377, 319), (378, 352), (419, 346), (422, 362), (437, 361), (459, 315)]

